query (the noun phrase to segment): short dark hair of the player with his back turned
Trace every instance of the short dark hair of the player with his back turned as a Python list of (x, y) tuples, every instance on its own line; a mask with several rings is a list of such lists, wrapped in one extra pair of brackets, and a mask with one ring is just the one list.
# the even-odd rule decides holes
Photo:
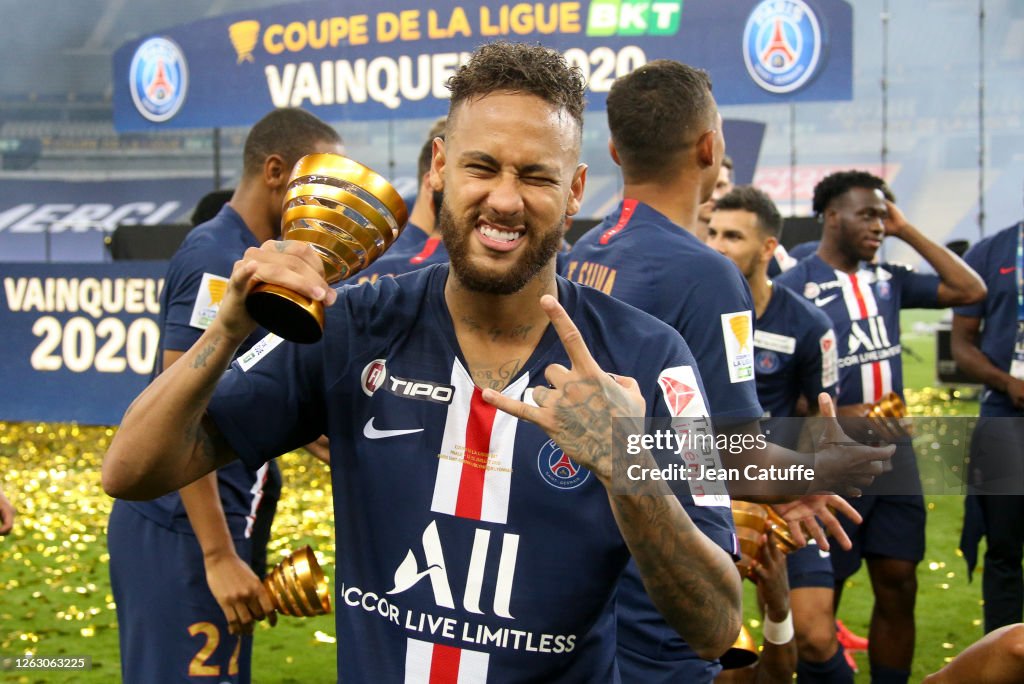
[(672, 59), (654, 59), (615, 79), (608, 129), (628, 180), (664, 175), (680, 152), (715, 126), (711, 90), (707, 72)]

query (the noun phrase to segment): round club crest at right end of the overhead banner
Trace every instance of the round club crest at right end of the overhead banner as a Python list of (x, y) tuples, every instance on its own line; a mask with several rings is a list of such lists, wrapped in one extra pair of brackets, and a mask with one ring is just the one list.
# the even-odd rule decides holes
[(821, 56), (818, 17), (804, 0), (762, 0), (743, 30), (743, 61), (768, 92), (797, 90), (814, 76)]

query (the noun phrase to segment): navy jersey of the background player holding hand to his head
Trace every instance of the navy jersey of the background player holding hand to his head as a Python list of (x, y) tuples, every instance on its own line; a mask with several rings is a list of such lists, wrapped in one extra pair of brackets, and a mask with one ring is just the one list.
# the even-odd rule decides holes
[(827, 314), (839, 344), (840, 405), (903, 395), (899, 310), (939, 308), (939, 276), (899, 264), (861, 264), (846, 273), (813, 254), (775, 283)]

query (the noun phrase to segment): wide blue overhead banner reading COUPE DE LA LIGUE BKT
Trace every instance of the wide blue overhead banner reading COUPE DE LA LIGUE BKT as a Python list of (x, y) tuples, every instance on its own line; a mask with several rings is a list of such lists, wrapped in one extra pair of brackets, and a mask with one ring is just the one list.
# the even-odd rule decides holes
[(845, 0), (316, 0), (169, 28), (114, 55), (119, 131), (247, 126), (273, 108), (327, 121), (425, 118), (479, 44), (542, 43), (604, 109), (612, 81), (656, 58), (708, 70), (721, 104), (851, 99)]

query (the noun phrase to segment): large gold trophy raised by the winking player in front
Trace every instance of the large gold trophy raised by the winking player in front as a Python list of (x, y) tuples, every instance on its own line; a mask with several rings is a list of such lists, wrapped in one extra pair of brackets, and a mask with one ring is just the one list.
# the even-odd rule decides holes
[[(282, 239), (315, 250), (329, 284), (359, 272), (397, 240), (409, 211), (381, 175), (341, 155), (306, 155), (292, 170), (285, 194)], [(293, 342), (324, 335), (324, 304), (262, 283), (246, 307), (263, 328)]]

